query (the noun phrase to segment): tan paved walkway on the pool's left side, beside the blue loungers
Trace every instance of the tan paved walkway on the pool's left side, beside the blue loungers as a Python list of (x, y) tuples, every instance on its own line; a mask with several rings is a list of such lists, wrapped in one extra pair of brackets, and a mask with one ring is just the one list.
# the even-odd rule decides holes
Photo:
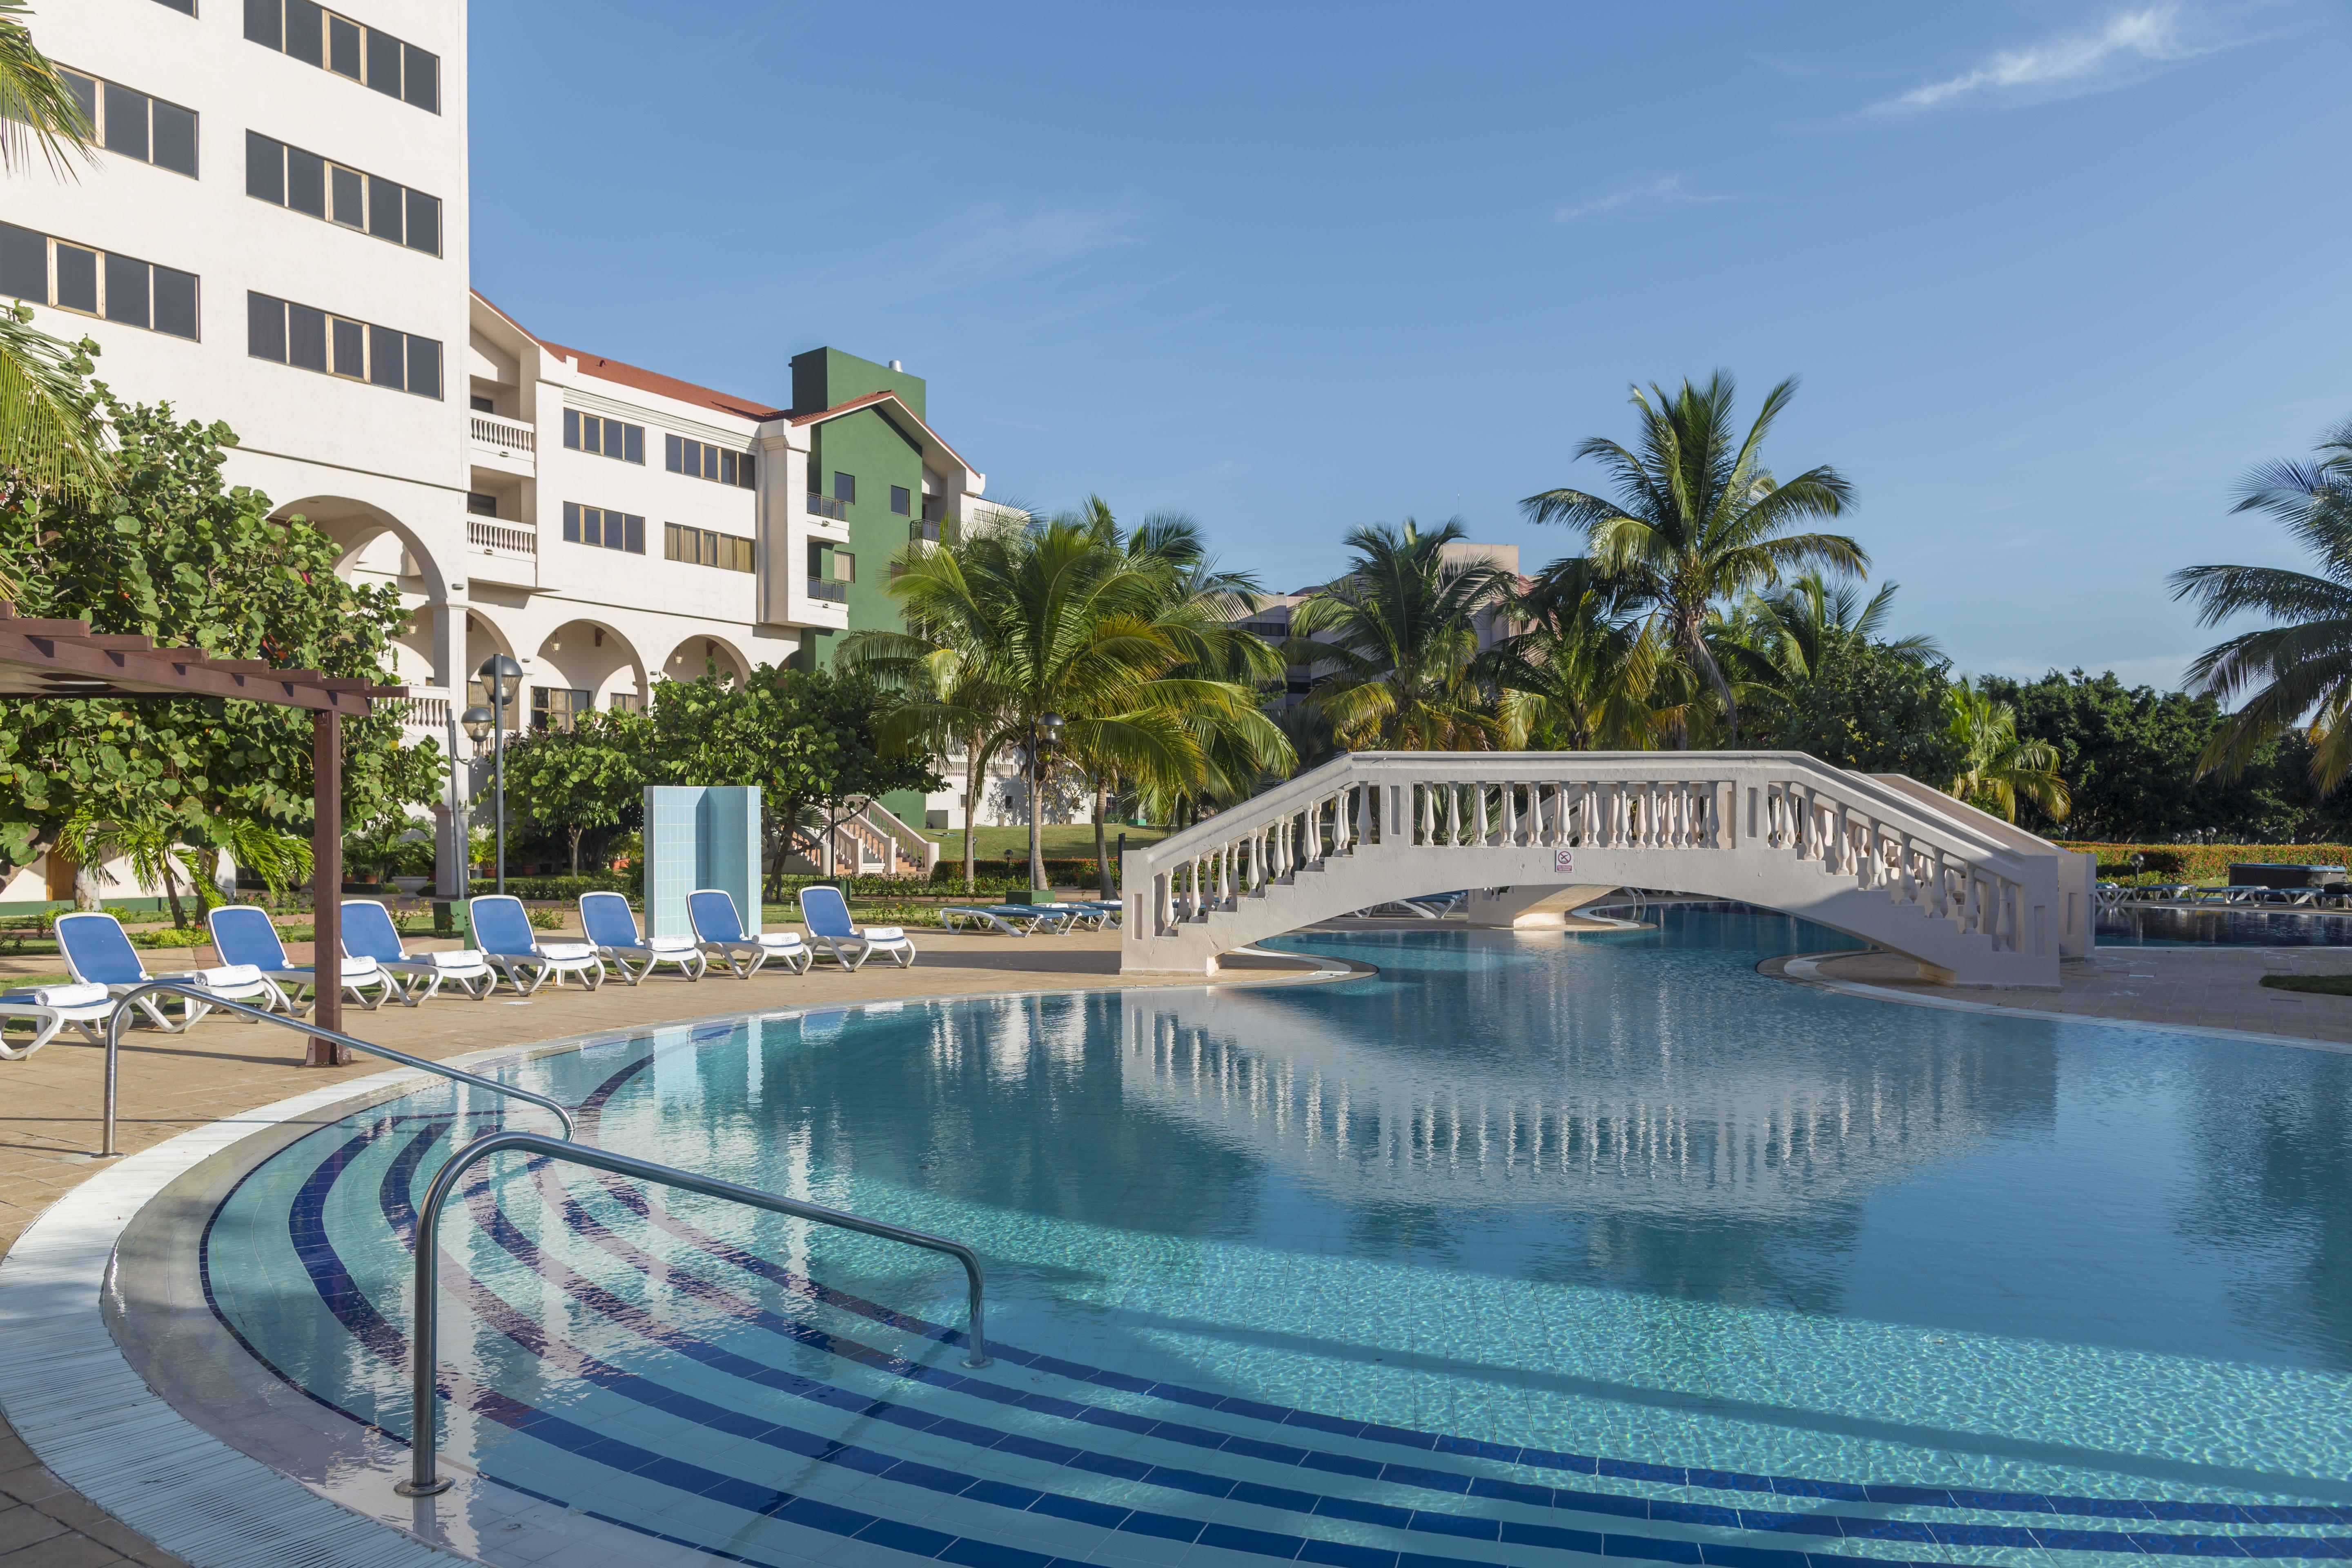
[[(550, 936), (560, 940), (564, 933)], [(503, 1044), (555, 1041), (760, 1009), (1136, 985), (1120, 978), (1117, 931), (1028, 940), (915, 931), (915, 945), (920, 959), (913, 969), (875, 961), (858, 973), (818, 966), (807, 976), (760, 971), (750, 980), (713, 971), (699, 983), (670, 976), (628, 987), (607, 980), (597, 992), (541, 990), (527, 1001), (501, 990), (492, 1001), (435, 997), (416, 1009), (386, 1004), (374, 1013), (346, 1006), (343, 1030), (442, 1060)], [(292, 957), (308, 961), (308, 952)], [(151, 973), (214, 961), (209, 947), (153, 952), (146, 959)], [(54, 966), (54, 959), (14, 959), (14, 964)], [(1301, 959), (1235, 957), (1218, 983), (1296, 983), (1312, 973), (1315, 964)], [(1202, 985), (1183, 976), (1164, 983)], [(219, 1013), (186, 1034), (132, 1032), (122, 1053), (118, 1147), (136, 1152), (303, 1088), (362, 1079), (386, 1067), (372, 1056), (350, 1067), (296, 1067), (301, 1048), (303, 1037), (292, 1030), (249, 1025)], [(0, 1251), (7, 1251), (68, 1187), (108, 1164), (92, 1159), (101, 1128), (103, 1063), (103, 1048), (71, 1032), (21, 1063), (0, 1063)], [(165, 1566), (179, 1559), (158, 1552), (66, 1488), (0, 1420), (0, 1566), (103, 1568), (108, 1563)]]

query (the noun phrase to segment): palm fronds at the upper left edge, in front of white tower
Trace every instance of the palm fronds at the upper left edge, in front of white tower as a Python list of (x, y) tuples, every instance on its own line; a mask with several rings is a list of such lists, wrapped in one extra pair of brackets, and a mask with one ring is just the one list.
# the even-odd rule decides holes
[[(0, 174), (35, 155), (56, 176), (96, 162), (96, 141), (56, 63), (33, 47), (31, 7), (0, 0)], [(111, 463), (82, 383), (85, 350), (33, 327), (33, 308), (0, 306), (0, 473), (49, 491), (89, 491)], [(5, 578), (0, 578), (5, 590)]]

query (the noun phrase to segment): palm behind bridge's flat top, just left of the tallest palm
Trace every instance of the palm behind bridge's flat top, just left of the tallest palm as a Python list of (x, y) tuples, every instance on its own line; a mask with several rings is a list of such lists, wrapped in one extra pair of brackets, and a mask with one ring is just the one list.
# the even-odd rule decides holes
[(1571, 555), (1536, 574), (1510, 607), (1515, 625), (1482, 672), (1503, 689), (1508, 745), (1548, 731), (1562, 748), (1642, 750), (1656, 745), (1668, 715), (1658, 628), (1639, 616), (1623, 578)]

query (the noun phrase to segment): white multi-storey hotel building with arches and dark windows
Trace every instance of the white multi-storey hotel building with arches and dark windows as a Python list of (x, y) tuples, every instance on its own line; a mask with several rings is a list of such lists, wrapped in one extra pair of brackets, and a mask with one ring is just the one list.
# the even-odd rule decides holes
[[(795, 402), (866, 383), (774, 407), (562, 348), (473, 294), (466, 7), (350, 2), (42, 5), (33, 42), (106, 150), (7, 181), (0, 296), (96, 339), (118, 395), (226, 421), (233, 484), (400, 585), (416, 738), (449, 745), (492, 654), (524, 670), (515, 726), (821, 658), (887, 614), (896, 548), (990, 510), (896, 362), (800, 355)], [(847, 421), (887, 421), (891, 475), (863, 494), (840, 456), (811, 470), (835, 425), (837, 451), (877, 451)], [(953, 788), (929, 806), (962, 823)], [(40, 898), (26, 879), (0, 900)]]

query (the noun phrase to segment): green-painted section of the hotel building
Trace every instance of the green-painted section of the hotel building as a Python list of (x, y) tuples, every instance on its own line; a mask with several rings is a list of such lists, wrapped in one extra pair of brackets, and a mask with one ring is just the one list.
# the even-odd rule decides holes
[[(924, 381), (889, 364), (875, 364), (840, 348), (811, 348), (793, 355), (793, 414), (816, 414), (868, 393), (896, 393), (915, 418), (929, 421)], [(901, 625), (898, 602), (889, 595), (889, 564), (913, 538), (922, 517), (922, 447), (903, 425), (898, 409), (882, 404), (842, 414), (809, 428), (809, 491), (842, 501), (849, 510), (849, 630), (894, 630)], [(894, 491), (906, 510), (896, 510)], [(809, 545), (811, 578), (840, 581), (833, 545)], [(830, 663), (840, 637), (802, 630), (795, 663), (814, 668)], [(922, 825), (922, 795), (898, 790), (882, 804), (903, 820)]]

